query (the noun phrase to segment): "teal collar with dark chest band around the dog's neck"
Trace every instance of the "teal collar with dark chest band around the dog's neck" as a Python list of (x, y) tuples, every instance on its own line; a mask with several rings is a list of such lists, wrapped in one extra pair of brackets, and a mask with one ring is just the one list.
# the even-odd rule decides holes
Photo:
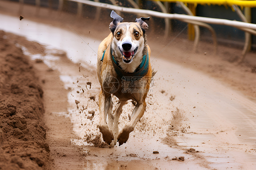
[[(104, 51), (104, 53), (102, 55), (102, 59), (101, 59), (102, 62), (103, 62), (103, 58), (104, 58), (106, 50)], [(126, 81), (140, 80), (142, 77), (144, 77), (148, 73), (148, 71), (149, 71), (149, 52), (148, 52), (147, 47), (144, 47), (143, 51), (144, 50), (146, 52), (146, 55), (143, 55), (141, 64), (138, 66), (138, 68), (135, 69), (135, 71), (133, 73), (126, 73), (121, 69), (118, 62), (115, 61), (115, 58), (112, 55), (113, 51), (111, 49), (111, 61), (113, 63), (113, 67), (115, 69), (116, 74), (122, 80), (126, 80)]]

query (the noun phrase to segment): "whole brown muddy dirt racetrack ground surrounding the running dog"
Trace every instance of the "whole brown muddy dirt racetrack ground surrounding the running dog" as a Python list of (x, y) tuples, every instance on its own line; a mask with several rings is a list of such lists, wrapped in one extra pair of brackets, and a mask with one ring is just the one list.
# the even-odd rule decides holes
[[(18, 4), (0, 2), (0, 169), (255, 169), (255, 53), (238, 64), (241, 49), (219, 46), (215, 55), (202, 42), (191, 53), (180, 36), (157, 56), (175, 35), (160, 42), (149, 32), (158, 72), (146, 112), (127, 143), (109, 149), (97, 127), (93, 50), (111, 18), (98, 27), (25, 6), (20, 21)], [(120, 129), (133, 108), (124, 106)]]

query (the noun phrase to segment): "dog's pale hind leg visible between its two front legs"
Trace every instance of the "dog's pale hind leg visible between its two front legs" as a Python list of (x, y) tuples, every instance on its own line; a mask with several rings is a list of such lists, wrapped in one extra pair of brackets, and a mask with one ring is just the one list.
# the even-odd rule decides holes
[(116, 107), (116, 109), (114, 110), (114, 124), (113, 124), (113, 128), (112, 128), (112, 132), (114, 135), (114, 140), (111, 142), (111, 147), (114, 147), (116, 145), (117, 142), (117, 136), (118, 136), (118, 124), (119, 124), (119, 117), (121, 115), (121, 113), (123, 112), (123, 106), (125, 104), (127, 104), (127, 101), (122, 101), (118, 104), (118, 106)]

